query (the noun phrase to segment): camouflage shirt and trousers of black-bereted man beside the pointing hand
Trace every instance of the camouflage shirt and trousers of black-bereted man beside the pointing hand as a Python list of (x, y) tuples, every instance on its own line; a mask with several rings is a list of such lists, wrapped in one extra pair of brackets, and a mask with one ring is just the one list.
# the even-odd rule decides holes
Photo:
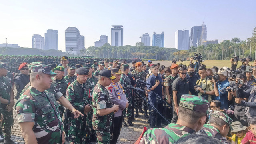
[[(66, 98), (74, 108), (79, 110), (82, 114), (84, 114), (84, 107), (87, 104), (90, 104), (88, 97), (89, 91), (87, 90), (85, 83), (79, 84), (79, 82), (75, 80), (68, 86)], [(74, 115), (71, 114), (70, 110), (67, 112), (67, 117), (69, 142), (73, 142), (74, 144), (85, 144), (88, 134), (88, 128), (86, 126), (88, 117), (84, 114), (84, 116), (74, 119)]]

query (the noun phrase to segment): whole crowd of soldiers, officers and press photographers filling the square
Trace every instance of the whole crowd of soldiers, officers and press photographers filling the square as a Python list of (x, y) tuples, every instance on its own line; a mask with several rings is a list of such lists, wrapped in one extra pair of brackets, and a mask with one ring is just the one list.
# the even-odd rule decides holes
[[(231, 74), (227, 67), (206, 69), (200, 64), (195, 73), (192, 59), (188, 67), (178, 65), (176, 61), (165, 67), (152, 64), (150, 60), (147, 64), (137, 60), (132, 61), (130, 67), (127, 60), (100, 60), (74, 60), (63, 56), (55, 63), (22, 61), (17, 68), (20, 73), (14, 76), (8, 66), (10, 61), (0, 59), (0, 110), (3, 117), (0, 141), (17, 143), (10, 139), (13, 106), (22, 136), (28, 144), (63, 144), (65, 141), (70, 144), (116, 144), (122, 126), (134, 126), (132, 121), (139, 113), (144, 114), (151, 127), (136, 142), (140, 144), (178, 143), (190, 139), (189, 135), (194, 133), (214, 137), (212, 142), (218, 139), (216, 143), (228, 144), (234, 136), (232, 140), (228, 139), (230, 130), (237, 134), (236, 141), (241, 142), (242, 136), (238, 137), (238, 132), (244, 131), (245, 122), (254, 132), (256, 118), (254, 109), (250, 109), (254, 108), (250, 104), (254, 101), (251, 98), (254, 88), (244, 88), (244, 84), (239, 83), (244, 93), (239, 93), (238, 99), (234, 96), (235, 110), (241, 106), (249, 107), (245, 114), (247, 116), (249, 111), (251, 117), (245, 121), (243, 116), (237, 117), (235, 110), (226, 108), (225, 100), (235, 95), (234, 90), (223, 91), (229, 86), (226, 81), (234, 81), (234, 78), (228, 78)], [(256, 73), (252, 67), (246, 67), (245, 72), (249, 69)], [(236, 82), (245, 78), (240, 75)], [(249, 83), (250, 86), (253, 84)], [(248, 94), (247, 91), (250, 96), (244, 96), (244, 99), (243, 94)], [(236, 116), (235, 123), (232, 115)], [(162, 124), (167, 126), (163, 128)], [(200, 138), (203, 141), (208, 137)]]

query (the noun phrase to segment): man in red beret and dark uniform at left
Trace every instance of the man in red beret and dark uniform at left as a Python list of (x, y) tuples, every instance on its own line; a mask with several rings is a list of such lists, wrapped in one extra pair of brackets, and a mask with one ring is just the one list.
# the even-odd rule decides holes
[(23, 88), (30, 82), (29, 68), (27, 64), (28, 63), (26, 62), (20, 64), (18, 68), (18, 70), (20, 70), (20, 74), (14, 77), (14, 84), (17, 89), (17, 95), (15, 96), (16, 100), (20, 97), (20, 92), (22, 92)]

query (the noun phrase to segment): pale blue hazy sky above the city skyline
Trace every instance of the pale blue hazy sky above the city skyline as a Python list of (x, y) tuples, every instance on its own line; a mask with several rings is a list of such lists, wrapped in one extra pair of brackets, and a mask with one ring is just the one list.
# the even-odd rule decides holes
[(32, 48), (33, 34), (58, 30), (59, 50), (65, 51), (65, 30), (75, 26), (85, 36), (85, 47), (94, 46), (111, 25), (124, 26), (124, 45), (135, 45), (139, 36), (164, 31), (165, 47), (174, 48), (176, 30), (206, 24), (207, 40), (233, 37), (245, 40), (256, 27), (255, 0), (1, 0), (0, 43)]

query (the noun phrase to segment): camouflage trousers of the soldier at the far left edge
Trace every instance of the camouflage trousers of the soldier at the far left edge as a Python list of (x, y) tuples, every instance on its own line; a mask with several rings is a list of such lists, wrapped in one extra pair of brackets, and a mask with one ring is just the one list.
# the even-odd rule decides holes
[(0, 108), (1, 114), (3, 114), (4, 119), (2, 122), (0, 122), (0, 126), (2, 126), (2, 130), (4, 132), (5, 136), (11, 136), (12, 130), (11, 126), (13, 124), (13, 115), (12, 111), (7, 111), (7, 106), (5, 108)]

